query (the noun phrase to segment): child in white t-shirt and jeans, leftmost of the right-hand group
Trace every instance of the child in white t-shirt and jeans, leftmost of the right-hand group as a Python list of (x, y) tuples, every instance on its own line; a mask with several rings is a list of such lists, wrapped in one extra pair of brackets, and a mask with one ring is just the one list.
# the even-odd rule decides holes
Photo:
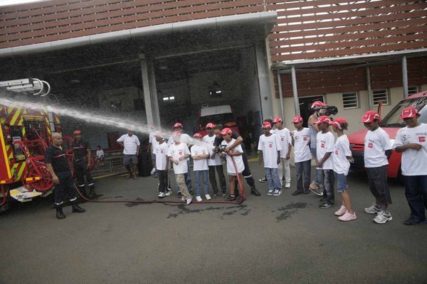
[(268, 182), (267, 195), (279, 196), (282, 194), (282, 185), (280, 185), (278, 163), (280, 163), (280, 146), (279, 137), (270, 132), (271, 124), (268, 121), (263, 123), (264, 134), (260, 136), (258, 150), (260, 151), (259, 163), (263, 163), (265, 177)]

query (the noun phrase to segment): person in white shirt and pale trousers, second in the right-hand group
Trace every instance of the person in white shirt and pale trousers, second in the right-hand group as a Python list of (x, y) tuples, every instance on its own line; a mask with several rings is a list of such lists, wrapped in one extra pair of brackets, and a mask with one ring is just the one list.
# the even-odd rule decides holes
[(276, 117), (273, 119), (275, 126), (275, 135), (280, 139), (280, 164), (279, 164), (279, 178), (280, 185), (283, 185), (283, 174), (285, 175), (285, 188), (290, 187), (290, 151), (292, 149), (292, 138), (290, 138), (290, 131), (283, 126), (283, 119)]

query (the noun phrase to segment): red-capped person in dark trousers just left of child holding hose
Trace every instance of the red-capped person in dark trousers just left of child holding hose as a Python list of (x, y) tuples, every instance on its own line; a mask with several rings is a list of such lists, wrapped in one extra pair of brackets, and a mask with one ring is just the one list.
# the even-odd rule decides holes
[(203, 142), (207, 145), (211, 145), (212, 147), (208, 148), (210, 157), (208, 158), (208, 167), (209, 167), (209, 182), (211, 182), (212, 190), (214, 191), (214, 198), (218, 197), (218, 185), (216, 183), (215, 170), (218, 174), (219, 186), (221, 187), (221, 195), (222, 197), (227, 197), (227, 184), (226, 177), (224, 176), (224, 170), (222, 165), (221, 157), (214, 152), (214, 141), (215, 141), (215, 133), (214, 133), (215, 125), (212, 123), (206, 124), (206, 131), (208, 134), (204, 136)]

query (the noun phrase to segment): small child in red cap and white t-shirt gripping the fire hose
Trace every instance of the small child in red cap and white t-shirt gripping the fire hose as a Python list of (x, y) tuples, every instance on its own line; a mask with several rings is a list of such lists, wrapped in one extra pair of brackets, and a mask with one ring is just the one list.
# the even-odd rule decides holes
[[(220, 134), (223, 136), (223, 141), (221, 142), (222, 146), (226, 146), (226, 148), (233, 145), (234, 142), (236, 142), (236, 139), (231, 138), (231, 129), (225, 128), (223, 129)], [(227, 201), (234, 201), (236, 200), (235, 190), (236, 190), (236, 175), (240, 177), (241, 180), (243, 180), (242, 172), (245, 169), (245, 165), (243, 164), (243, 149), (242, 146), (238, 145), (236, 148), (231, 149), (228, 151), (228, 153), (223, 152), (221, 153), (223, 157), (226, 157), (227, 160), (227, 173), (228, 178), (230, 180), (230, 196), (228, 197)], [(233, 161), (231, 160), (231, 156), (233, 156), (234, 162), (236, 163), (237, 167), (237, 173), (236, 168), (234, 168)]]

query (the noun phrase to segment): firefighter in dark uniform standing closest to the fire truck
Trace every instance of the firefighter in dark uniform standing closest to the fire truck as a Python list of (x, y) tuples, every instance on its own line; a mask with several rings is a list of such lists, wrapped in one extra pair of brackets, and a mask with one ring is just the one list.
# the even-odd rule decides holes
[(73, 174), (68, 164), (68, 158), (62, 148), (63, 138), (60, 133), (52, 133), (52, 145), (46, 149), (45, 161), (48, 170), (52, 175), (53, 184), (55, 185), (55, 208), (56, 218), (64, 219), (63, 198), (64, 192), (67, 191), (68, 199), (73, 207), (73, 213), (83, 213), (85, 209), (78, 206), (75, 195), (75, 185)]

